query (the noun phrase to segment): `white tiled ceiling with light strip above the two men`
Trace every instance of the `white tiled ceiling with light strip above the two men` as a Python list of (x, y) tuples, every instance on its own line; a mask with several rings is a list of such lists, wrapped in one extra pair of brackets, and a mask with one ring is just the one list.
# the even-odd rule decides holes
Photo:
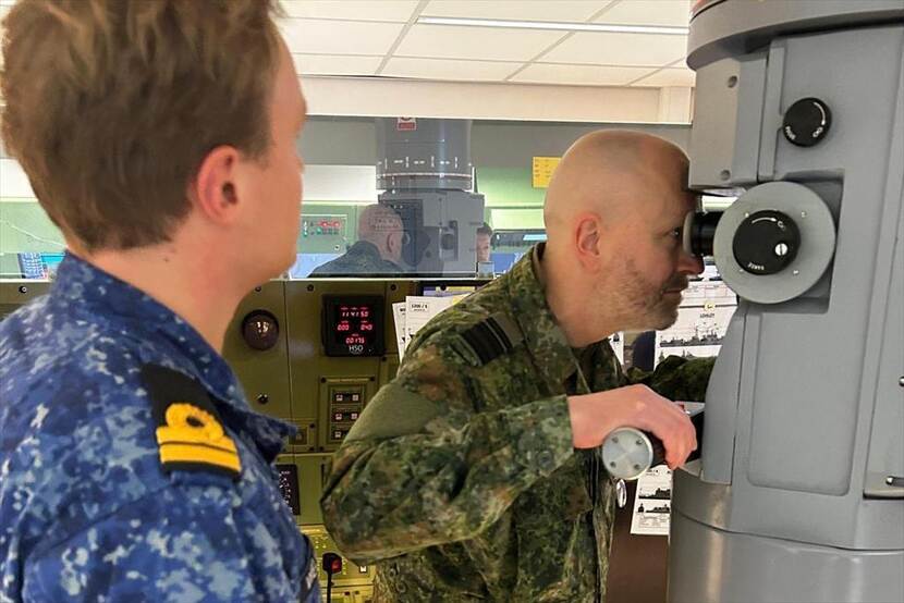
[(693, 87), (684, 35), (491, 28), (422, 16), (686, 27), (691, 0), (282, 0), (298, 74)]

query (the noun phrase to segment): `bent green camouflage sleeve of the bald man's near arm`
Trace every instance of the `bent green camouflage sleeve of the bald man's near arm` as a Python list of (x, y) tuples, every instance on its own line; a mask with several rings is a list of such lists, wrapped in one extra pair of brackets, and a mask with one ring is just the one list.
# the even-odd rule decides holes
[(465, 373), (419, 347), (333, 456), (323, 519), (356, 563), (474, 538), (574, 454), (564, 395), (479, 413)]

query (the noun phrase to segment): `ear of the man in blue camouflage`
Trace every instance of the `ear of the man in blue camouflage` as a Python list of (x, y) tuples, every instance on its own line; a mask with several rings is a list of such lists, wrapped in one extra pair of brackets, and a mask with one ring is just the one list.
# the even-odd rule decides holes
[(228, 224), (235, 220), (239, 209), (235, 182), (240, 161), (234, 147), (215, 148), (204, 158), (195, 181), (188, 187), (188, 198), (212, 222)]

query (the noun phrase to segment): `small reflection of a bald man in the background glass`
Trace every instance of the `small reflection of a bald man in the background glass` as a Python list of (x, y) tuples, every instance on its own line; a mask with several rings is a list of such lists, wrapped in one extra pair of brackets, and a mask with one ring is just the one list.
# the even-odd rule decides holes
[(395, 276), (404, 270), (399, 214), (381, 205), (367, 206), (358, 217), (358, 241), (343, 256), (315, 268), (311, 276)]

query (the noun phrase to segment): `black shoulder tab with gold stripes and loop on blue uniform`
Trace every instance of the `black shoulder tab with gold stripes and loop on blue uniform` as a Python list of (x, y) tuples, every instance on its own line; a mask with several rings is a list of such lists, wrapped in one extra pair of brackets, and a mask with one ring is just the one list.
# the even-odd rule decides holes
[(237, 479), (242, 462), (207, 390), (159, 365), (144, 365), (163, 471), (212, 471)]

